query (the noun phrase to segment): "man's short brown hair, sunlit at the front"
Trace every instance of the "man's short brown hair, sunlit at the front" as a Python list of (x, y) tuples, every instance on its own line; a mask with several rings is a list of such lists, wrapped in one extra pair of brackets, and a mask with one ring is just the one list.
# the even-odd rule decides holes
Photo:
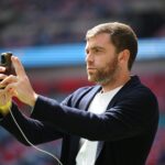
[(110, 34), (110, 41), (114, 45), (117, 53), (123, 50), (130, 51), (128, 68), (131, 70), (138, 54), (138, 37), (132, 28), (119, 22), (99, 24), (87, 32), (86, 40), (100, 33)]

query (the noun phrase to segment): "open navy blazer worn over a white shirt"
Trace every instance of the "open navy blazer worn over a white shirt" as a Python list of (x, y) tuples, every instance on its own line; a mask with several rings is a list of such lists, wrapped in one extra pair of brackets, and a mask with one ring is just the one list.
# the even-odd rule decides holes
[[(88, 112), (100, 86), (84, 87), (62, 103), (40, 96), (31, 118), (12, 106), (16, 121), (34, 144), (63, 138), (62, 162), (75, 165), (79, 139), (99, 141), (96, 165), (144, 165), (158, 123), (158, 106), (154, 94), (131, 77), (101, 114)], [(26, 144), (8, 114), (0, 124)]]

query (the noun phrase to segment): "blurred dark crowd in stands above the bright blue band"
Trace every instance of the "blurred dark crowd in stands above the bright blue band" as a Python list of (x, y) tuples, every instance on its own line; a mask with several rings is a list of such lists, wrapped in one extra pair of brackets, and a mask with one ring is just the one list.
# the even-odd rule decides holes
[(82, 42), (107, 21), (131, 24), (139, 37), (165, 36), (163, 0), (1, 0), (0, 47)]

